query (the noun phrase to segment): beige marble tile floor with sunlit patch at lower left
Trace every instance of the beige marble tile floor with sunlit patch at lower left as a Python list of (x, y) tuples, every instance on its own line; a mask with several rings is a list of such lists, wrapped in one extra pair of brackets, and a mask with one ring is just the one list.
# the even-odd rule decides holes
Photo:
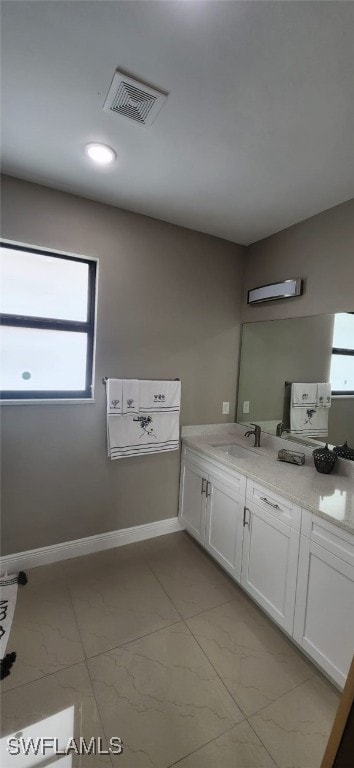
[[(338, 691), (186, 533), (27, 573), (2, 768), (320, 767)], [(9, 736), (124, 751), (21, 762)]]

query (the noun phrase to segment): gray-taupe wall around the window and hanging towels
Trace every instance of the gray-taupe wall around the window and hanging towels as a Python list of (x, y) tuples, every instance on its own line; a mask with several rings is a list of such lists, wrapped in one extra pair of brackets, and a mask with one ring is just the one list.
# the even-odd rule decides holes
[(109, 461), (101, 379), (177, 376), (182, 424), (234, 421), (245, 249), (9, 177), (2, 236), (100, 260), (96, 402), (2, 408), (3, 553), (173, 517), (179, 454)]

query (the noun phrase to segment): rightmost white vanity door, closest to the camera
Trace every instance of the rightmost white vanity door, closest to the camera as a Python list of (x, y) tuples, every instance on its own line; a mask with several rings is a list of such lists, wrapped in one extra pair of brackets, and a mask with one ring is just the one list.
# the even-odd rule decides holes
[(344, 686), (354, 650), (354, 568), (301, 536), (294, 639)]

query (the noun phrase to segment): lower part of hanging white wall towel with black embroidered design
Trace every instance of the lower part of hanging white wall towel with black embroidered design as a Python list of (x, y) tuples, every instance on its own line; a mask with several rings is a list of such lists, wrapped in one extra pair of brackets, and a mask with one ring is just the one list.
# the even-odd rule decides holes
[(179, 413), (108, 414), (107, 437), (111, 459), (177, 451)]

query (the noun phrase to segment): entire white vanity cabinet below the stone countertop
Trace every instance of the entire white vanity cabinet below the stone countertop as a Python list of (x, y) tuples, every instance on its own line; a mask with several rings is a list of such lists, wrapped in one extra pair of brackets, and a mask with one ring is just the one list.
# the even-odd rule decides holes
[(354, 650), (354, 534), (186, 446), (179, 516), (343, 687)]

